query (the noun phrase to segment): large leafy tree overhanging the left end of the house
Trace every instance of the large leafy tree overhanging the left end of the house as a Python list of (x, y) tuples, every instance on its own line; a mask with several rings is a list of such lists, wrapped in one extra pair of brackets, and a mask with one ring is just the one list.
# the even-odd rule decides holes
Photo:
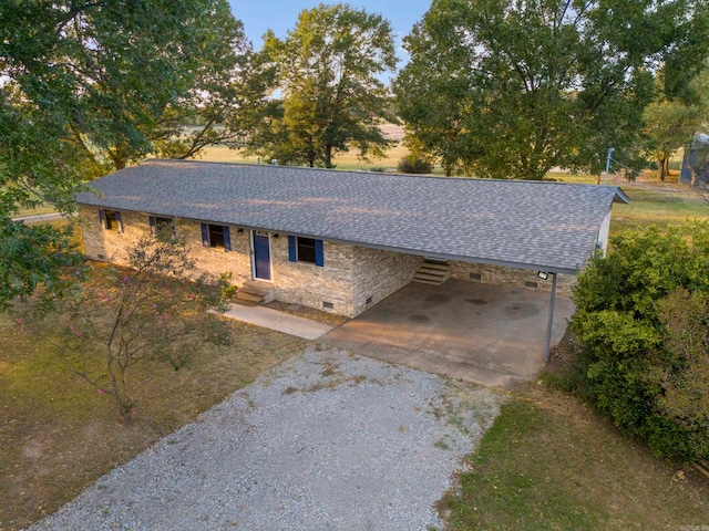
[[(238, 90), (249, 44), (225, 0), (10, 0), (0, 20), (1, 306), (58, 288), (76, 259), (61, 230), (12, 221), (20, 209), (70, 212), (76, 185), (233, 138), (254, 114), (246, 102), (263, 100), (258, 85)], [(178, 138), (195, 117), (202, 127)]]

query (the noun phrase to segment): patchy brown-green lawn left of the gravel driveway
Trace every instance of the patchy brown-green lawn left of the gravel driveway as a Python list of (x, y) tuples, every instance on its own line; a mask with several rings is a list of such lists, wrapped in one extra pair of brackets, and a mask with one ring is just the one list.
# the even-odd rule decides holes
[(178, 372), (158, 362), (133, 367), (141, 403), (122, 421), (112, 398), (63, 365), (53, 323), (30, 331), (0, 315), (0, 530), (55, 511), (305, 345), (278, 332), (229, 326), (233, 346), (204, 344)]

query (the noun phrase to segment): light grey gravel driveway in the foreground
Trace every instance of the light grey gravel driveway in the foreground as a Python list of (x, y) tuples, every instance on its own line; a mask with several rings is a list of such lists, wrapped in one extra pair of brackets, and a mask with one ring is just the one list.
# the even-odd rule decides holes
[(503, 396), (310, 347), (33, 530), (427, 530)]

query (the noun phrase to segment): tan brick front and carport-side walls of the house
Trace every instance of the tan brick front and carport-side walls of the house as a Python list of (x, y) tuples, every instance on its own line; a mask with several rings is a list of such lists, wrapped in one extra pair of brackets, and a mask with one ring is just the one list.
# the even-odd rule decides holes
[[(121, 211), (123, 232), (106, 230), (99, 222), (99, 210), (80, 207), (84, 252), (95, 260), (127, 264), (126, 249), (150, 232), (147, 214)], [(232, 273), (240, 285), (251, 280), (250, 231), (229, 226), (232, 251), (205, 248), (199, 222), (175, 218), (175, 232), (185, 239), (196, 261), (194, 277), (201, 273)], [(288, 237), (270, 235), (271, 282), (276, 299), (291, 304), (353, 317), (408, 284), (421, 261), (419, 257), (374, 249), (323, 242), (323, 267), (288, 261)], [(367, 300), (371, 298), (371, 302)]]

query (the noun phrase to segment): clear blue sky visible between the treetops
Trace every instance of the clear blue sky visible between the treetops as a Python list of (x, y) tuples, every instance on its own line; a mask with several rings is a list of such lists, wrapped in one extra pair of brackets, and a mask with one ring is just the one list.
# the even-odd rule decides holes
[[(286, 32), (296, 25), (300, 11), (320, 3), (337, 1), (229, 0), (234, 17), (244, 22), (246, 37), (256, 50), (261, 48), (261, 37), (266, 30), (274, 30), (276, 37), (286, 37)], [(421, 20), (431, 7), (431, 0), (352, 0), (347, 3), (389, 19), (397, 33), (398, 46), (401, 46), (401, 38), (411, 31), (411, 27)], [(403, 54), (400, 52), (399, 55)]]

